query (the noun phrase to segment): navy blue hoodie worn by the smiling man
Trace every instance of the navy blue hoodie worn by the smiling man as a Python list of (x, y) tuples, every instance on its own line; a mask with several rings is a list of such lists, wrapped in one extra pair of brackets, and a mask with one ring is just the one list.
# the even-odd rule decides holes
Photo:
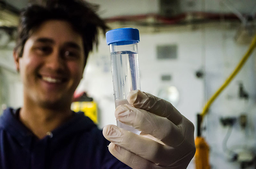
[(82, 112), (38, 139), (19, 121), (19, 110), (0, 117), (1, 169), (130, 168), (110, 154), (108, 140)]

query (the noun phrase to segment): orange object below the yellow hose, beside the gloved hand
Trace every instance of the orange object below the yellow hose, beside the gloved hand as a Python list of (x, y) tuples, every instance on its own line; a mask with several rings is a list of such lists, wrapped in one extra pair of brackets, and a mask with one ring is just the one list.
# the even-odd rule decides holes
[(197, 136), (196, 144), (196, 169), (210, 169), (209, 165), (209, 146), (203, 137)]

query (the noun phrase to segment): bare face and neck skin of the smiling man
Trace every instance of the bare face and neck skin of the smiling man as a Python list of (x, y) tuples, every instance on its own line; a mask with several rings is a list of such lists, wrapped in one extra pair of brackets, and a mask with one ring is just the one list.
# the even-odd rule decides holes
[(72, 95), (84, 70), (83, 39), (67, 21), (50, 19), (28, 38), (22, 57), (14, 51), (14, 58), (24, 84), (20, 121), (41, 139), (73, 114)]

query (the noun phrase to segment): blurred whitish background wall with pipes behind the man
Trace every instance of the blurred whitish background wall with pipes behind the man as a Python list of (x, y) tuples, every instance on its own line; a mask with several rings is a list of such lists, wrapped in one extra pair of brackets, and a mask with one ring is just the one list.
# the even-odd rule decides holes
[[(22, 106), (22, 84), (12, 49), (17, 14), (30, 1), (0, 2), (0, 104), (4, 109)], [(195, 127), (196, 114), (235, 69), (256, 30), (254, 0), (89, 2), (99, 8), (110, 28), (139, 29), (141, 90), (171, 101)], [(253, 52), (204, 118), (202, 136), (210, 146), (212, 169), (255, 168), (248, 162), (256, 154), (255, 56)], [(103, 34), (76, 92), (86, 92), (97, 103), (99, 128), (116, 124), (109, 47)], [(225, 125), (221, 119), (234, 123)], [(188, 168), (195, 168), (194, 159)]]

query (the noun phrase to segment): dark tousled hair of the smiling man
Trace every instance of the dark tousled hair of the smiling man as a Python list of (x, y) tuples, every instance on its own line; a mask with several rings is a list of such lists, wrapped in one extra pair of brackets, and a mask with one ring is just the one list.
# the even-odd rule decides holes
[[(30, 4), (20, 13), (20, 24), (14, 51), (23, 55), (26, 41), (46, 20), (68, 21), (83, 38), (85, 63), (93, 46), (98, 45), (99, 28), (106, 33), (108, 26), (96, 14), (95, 6), (83, 0), (46, 0), (44, 4)], [(84, 63), (84, 65), (85, 65)]]

